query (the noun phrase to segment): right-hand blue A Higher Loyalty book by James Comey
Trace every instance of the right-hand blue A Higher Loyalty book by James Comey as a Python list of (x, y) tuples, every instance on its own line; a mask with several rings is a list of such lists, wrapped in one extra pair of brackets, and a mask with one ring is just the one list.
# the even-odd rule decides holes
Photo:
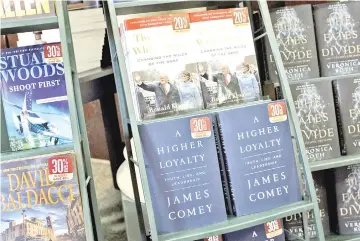
[(284, 101), (217, 114), (236, 216), (300, 201)]

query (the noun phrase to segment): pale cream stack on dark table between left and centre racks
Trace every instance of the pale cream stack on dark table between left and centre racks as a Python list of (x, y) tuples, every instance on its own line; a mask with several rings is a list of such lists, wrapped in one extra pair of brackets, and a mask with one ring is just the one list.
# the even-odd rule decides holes
[(78, 73), (100, 68), (106, 23), (102, 8), (69, 12)]

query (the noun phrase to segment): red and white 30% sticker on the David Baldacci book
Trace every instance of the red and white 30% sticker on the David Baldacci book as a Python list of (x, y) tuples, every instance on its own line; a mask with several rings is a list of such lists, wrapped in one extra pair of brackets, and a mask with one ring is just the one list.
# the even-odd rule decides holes
[(49, 180), (52, 182), (72, 180), (74, 177), (72, 158), (55, 156), (48, 159)]

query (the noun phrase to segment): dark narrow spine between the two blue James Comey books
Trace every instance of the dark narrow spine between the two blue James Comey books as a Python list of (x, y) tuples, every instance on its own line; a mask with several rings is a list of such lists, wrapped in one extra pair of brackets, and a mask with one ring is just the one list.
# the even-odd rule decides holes
[(231, 193), (230, 193), (230, 186), (227, 176), (227, 166), (224, 161), (224, 152), (223, 152), (223, 145), (221, 142), (221, 131), (219, 131), (219, 124), (217, 118), (214, 118), (213, 122), (213, 130), (214, 130), (214, 136), (215, 136), (215, 143), (216, 143), (216, 149), (217, 149), (217, 155), (219, 159), (219, 167), (220, 167), (220, 173), (221, 173), (221, 181), (223, 185), (223, 191), (224, 191), (224, 198), (225, 198), (225, 205), (226, 205), (226, 212), (228, 215), (233, 215), (233, 204), (231, 200)]

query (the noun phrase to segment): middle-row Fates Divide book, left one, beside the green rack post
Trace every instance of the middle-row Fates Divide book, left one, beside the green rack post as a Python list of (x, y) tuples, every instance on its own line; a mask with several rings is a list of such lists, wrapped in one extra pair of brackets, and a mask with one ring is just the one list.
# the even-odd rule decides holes
[(330, 81), (290, 84), (309, 161), (340, 156)]

